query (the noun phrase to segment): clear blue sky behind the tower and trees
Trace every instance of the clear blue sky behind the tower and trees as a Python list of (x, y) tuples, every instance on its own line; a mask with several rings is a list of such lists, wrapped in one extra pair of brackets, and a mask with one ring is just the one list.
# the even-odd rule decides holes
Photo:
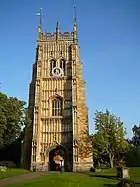
[(0, 91), (28, 101), (35, 60), (36, 13), (43, 8), (44, 31), (73, 27), (77, 7), (78, 37), (86, 80), (90, 131), (96, 110), (109, 109), (124, 122), (128, 137), (140, 124), (139, 0), (0, 1)]

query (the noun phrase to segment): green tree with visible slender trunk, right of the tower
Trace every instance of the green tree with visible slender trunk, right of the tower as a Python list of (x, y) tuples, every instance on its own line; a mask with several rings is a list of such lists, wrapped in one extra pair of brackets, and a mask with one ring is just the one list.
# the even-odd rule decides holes
[(97, 155), (106, 154), (110, 161), (110, 167), (114, 166), (115, 155), (124, 152), (128, 146), (125, 140), (126, 131), (123, 122), (115, 115), (106, 112), (95, 113), (95, 130), (93, 139), (93, 150)]

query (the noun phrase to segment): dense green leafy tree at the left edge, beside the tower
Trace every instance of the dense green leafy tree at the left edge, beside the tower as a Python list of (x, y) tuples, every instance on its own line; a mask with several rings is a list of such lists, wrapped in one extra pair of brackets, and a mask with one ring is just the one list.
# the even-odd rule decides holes
[(25, 123), (25, 102), (0, 93), (0, 149), (10, 145)]

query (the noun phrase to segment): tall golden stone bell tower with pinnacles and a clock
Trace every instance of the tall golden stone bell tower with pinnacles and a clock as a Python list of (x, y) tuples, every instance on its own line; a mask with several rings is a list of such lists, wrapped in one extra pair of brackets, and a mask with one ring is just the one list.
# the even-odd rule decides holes
[(29, 112), (32, 122), (25, 129), (24, 168), (56, 170), (57, 154), (64, 160), (65, 171), (92, 167), (92, 156), (80, 153), (84, 149), (81, 142), (88, 135), (88, 109), (76, 17), (73, 32), (62, 33), (57, 22), (56, 32), (44, 33), (40, 13)]

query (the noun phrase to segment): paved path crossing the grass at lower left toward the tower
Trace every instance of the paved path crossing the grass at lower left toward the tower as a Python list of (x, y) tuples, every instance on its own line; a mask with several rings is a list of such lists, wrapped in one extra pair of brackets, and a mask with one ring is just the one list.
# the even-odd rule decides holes
[(22, 182), (22, 181), (28, 180), (28, 179), (39, 178), (39, 177), (46, 175), (46, 174), (48, 174), (48, 173), (47, 172), (32, 172), (32, 173), (27, 173), (27, 174), (20, 175), (20, 176), (13, 176), (13, 177), (9, 177), (6, 179), (1, 179), (0, 180), (0, 187), (4, 187), (4, 186), (7, 186), (12, 183)]

